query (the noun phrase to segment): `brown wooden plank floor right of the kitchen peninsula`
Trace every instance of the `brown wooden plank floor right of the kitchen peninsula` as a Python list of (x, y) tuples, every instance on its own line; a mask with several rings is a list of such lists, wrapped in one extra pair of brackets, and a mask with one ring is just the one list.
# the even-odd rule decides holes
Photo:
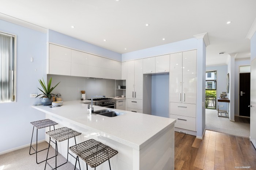
[(256, 170), (256, 150), (248, 138), (206, 130), (203, 140), (178, 132), (174, 139), (174, 169)]

